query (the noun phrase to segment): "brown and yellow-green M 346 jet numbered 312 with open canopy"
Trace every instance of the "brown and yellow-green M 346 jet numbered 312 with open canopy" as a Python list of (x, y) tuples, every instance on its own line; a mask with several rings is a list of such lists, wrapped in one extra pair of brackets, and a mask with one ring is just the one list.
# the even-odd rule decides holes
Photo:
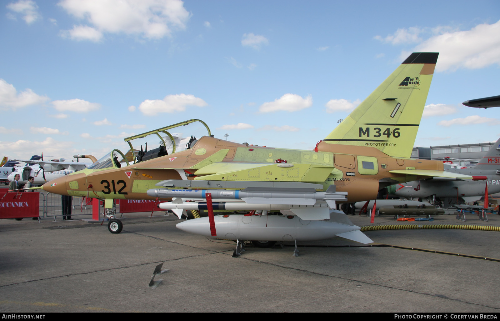
[[(196, 197), (206, 198), (205, 206), (212, 208), (213, 197), (225, 201), (217, 204), (220, 207), (237, 207), (234, 201), (239, 200), (240, 209), (263, 208), (265, 213), (282, 208), (295, 214), (217, 215), (214, 220), (200, 217), (177, 224), (208, 236), (296, 241), (336, 235), (371, 242), (342, 212), (334, 210), (336, 201), (374, 199), (380, 188), (414, 179), (410, 177), (471, 178), (444, 171), (442, 161), (405, 158), (411, 154), (437, 55), (410, 54), (314, 150), (252, 146), (208, 135), (193, 140), (186, 150), (122, 167), (112, 161), (117, 153), (125, 158), (115, 149), (108, 160), (42, 188), (97, 197), (106, 208), (112, 207), (114, 198), (170, 197), (176, 197), (166, 203), (172, 208), (181, 209), (187, 206), (184, 199)], [(137, 136), (158, 134), (165, 128)], [(166, 208), (164, 204), (160, 206)], [(109, 226), (111, 231), (121, 230), (117, 219)]]

